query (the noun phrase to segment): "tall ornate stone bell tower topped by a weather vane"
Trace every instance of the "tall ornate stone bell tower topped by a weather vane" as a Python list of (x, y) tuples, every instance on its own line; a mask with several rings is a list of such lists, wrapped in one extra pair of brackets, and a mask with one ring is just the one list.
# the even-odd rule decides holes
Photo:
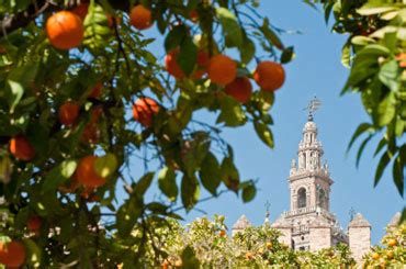
[[(314, 110), (313, 110), (314, 111)], [(292, 160), (290, 176), (290, 211), (272, 224), (282, 232), (281, 240), (291, 248), (317, 250), (348, 243), (346, 233), (330, 213), (330, 178), (327, 162), (322, 165), (323, 146), (309, 112), (298, 144), (297, 161)]]

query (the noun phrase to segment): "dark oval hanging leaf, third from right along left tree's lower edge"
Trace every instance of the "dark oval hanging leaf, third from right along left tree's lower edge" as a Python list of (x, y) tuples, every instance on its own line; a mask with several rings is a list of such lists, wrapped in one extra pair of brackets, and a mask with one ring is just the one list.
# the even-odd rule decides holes
[(217, 158), (207, 153), (199, 172), (203, 187), (213, 195), (217, 194), (217, 188), (222, 182), (222, 170)]

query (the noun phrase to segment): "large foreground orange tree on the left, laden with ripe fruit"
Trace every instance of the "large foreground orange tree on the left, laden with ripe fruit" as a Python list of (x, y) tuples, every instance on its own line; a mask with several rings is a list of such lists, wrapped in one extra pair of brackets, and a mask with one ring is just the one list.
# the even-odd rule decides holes
[[(0, 262), (111, 268), (125, 257), (131, 267), (147, 254), (150, 223), (192, 210), (202, 188), (250, 201), (255, 182), (240, 179), (221, 131), (252, 124), (273, 147), (269, 110), (293, 56), (257, 8), (0, 1)], [(165, 63), (150, 51), (160, 41)], [(167, 199), (146, 198), (153, 181)]]

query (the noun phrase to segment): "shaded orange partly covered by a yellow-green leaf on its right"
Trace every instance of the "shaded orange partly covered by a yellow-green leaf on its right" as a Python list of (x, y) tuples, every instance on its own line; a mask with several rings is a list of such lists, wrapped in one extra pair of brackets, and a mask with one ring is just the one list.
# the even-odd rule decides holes
[(86, 186), (98, 188), (105, 184), (105, 179), (100, 177), (94, 170), (94, 161), (98, 159), (97, 156), (86, 156), (76, 168), (75, 176), (78, 182)]

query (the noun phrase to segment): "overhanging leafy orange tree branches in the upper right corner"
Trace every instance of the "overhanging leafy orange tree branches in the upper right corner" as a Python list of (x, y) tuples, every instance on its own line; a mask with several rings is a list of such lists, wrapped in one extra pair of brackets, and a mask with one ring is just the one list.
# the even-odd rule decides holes
[[(373, 137), (374, 156), (380, 155), (374, 186), (392, 164), (393, 181), (404, 195), (406, 167), (406, 4), (386, 0), (305, 0), (320, 3), (326, 21), (332, 16), (332, 31), (347, 34), (342, 64), (350, 68), (341, 93), (356, 92), (362, 100), (370, 123), (354, 132), (349, 148), (364, 135), (357, 153), (357, 165)], [(404, 217), (406, 211), (404, 210)]]

